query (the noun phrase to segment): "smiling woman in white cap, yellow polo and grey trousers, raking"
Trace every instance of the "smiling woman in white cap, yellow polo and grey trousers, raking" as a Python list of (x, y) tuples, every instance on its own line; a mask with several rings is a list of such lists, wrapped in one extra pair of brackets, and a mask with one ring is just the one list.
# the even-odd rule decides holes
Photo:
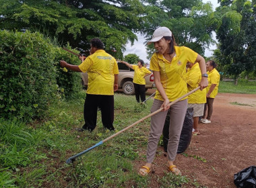
[[(185, 113), (187, 111), (187, 98), (168, 106), (170, 101), (187, 94), (186, 64), (198, 62), (201, 74), (206, 74), (205, 60), (202, 56), (185, 46), (177, 46), (172, 32), (166, 27), (160, 27), (154, 31), (152, 40), (157, 52), (150, 60), (150, 70), (153, 71), (156, 83), (156, 95), (151, 112), (163, 107), (163, 111), (151, 117), (150, 136), (148, 138), (148, 150), (146, 164), (139, 169), (140, 175), (150, 173), (152, 162), (156, 154), (158, 140), (162, 134), (164, 121), (170, 108), (170, 129), (168, 140), (167, 166), (175, 175), (181, 171), (173, 164), (177, 155), (179, 138)], [(199, 83), (200, 89), (207, 87), (207, 78), (203, 77)]]

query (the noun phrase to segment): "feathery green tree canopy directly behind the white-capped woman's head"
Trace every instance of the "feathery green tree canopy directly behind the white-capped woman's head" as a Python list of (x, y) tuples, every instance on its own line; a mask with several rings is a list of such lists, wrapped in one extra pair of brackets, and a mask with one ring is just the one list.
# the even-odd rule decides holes
[[(214, 43), (212, 32), (220, 26), (210, 3), (201, 0), (163, 0), (146, 1), (145, 29), (143, 33), (149, 39), (159, 26), (169, 28), (177, 44), (192, 48), (204, 54), (205, 48)], [(154, 51), (148, 47), (149, 56)]]

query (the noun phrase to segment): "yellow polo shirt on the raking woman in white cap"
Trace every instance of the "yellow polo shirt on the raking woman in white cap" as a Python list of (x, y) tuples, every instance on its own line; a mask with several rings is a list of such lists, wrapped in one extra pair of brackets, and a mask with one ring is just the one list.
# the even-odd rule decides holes
[[(172, 62), (158, 53), (154, 53), (150, 60), (150, 70), (160, 72), (162, 86), (170, 101), (187, 93), (186, 64), (195, 62), (197, 59), (197, 53), (185, 46), (174, 46), (174, 50), (175, 56), (172, 58)], [(154, 98), (164, 101), (159, 91), (156, 91)]]

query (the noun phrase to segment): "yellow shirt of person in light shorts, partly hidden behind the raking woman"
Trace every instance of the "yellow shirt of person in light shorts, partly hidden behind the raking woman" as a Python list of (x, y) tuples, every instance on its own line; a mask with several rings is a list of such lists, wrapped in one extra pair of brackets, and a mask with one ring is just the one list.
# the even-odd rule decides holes
[[(187, 71), (187, 91), (192, 91), (197, 88), (201, 81), (201, 70), (198, 63), (195, 63)], [(206, 103), (206, 89), (202, 91), (199, 89), (189, 95), (188, 103), (201, 104)]]

